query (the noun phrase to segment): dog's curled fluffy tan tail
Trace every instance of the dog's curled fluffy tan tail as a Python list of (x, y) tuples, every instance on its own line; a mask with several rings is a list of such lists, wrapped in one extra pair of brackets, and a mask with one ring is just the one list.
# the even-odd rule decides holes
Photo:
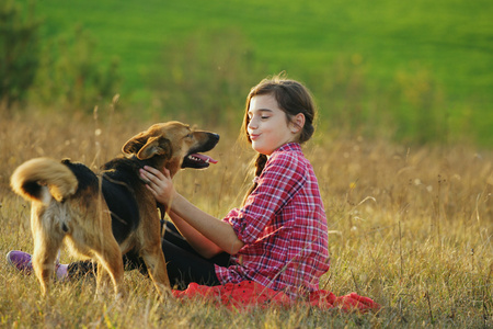
[(10, 184), (25, 200), (48, 204), (51, 197), (61, 202), (73, 195), (78, 181), (72, 171), (61, 162), (50, 158), (36, 158), (18, 167)]

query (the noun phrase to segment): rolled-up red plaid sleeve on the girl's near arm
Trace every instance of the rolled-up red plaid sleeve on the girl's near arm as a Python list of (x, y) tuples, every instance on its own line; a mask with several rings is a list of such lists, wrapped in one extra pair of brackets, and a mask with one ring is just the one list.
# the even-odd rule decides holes
[(305, 184), (307, 178), (303, 173), (302, 161), (293, 152), (273, 155), (244, 206), (229, 212), (223, 220), (232, 226), (241, 241), (254, 242)]

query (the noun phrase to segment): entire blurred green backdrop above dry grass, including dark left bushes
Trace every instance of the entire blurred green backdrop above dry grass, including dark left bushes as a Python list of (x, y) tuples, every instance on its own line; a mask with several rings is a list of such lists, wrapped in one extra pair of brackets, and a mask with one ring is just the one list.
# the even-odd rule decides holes
[[(0, 8), (0, 97), (10, 115), (90, 114), (118, 93), (130, 117), (239, 127), (249, 89), (286, 71), (313, 92), (322, 133), (493, 145), (491, 0), (4, 0)], [(28, 83), (12, 87), (28, 71)]]

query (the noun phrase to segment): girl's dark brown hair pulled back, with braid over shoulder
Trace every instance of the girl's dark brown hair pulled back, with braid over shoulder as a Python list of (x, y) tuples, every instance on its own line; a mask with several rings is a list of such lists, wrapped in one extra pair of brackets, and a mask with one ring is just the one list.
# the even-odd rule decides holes
[[(248, 126), (250, 123), (249, 109), (250, 101), (253, 97), (272, 94), (277, 101), (277, 105), (286, 113), (287, 122), (291, 122), (293, 117), (299, 113), (305, 115), (305, 125), (301, 127), (301, 132), (298, 135), (298, 143), (303, 144), (309, 140), (314, 132), (314, 121), (317, 115), (317, 109), (313, 102), (313, 98), (310, 91), (300, 82), (284, 78), (283, 75), (277, 75), (272, 78), (262, 80), (259, 84), (250, 90), (246, 97), (246, 104), (243, 117), (242, 132), (248, 141), (252, 144), (248, 133)], [(259, 154), (255, 159), (255, 177), (259, 177), (264, 170), (267, 162), (267, 156)], [(243, 200), (255, 190), (257, 183), (254, 181), (253, 185), (246, 192)]]

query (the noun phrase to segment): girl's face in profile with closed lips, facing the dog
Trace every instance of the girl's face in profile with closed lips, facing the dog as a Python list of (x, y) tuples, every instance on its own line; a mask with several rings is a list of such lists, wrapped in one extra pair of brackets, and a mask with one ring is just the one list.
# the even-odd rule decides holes
[[(255, 95), (250, 100), (248, 133), (252, 148), (270, 156), (286, 143), (296, 140), (300, 127), (288, 123), (273, 94)], [(302, 114), (301, 114), (302, 115)]]

